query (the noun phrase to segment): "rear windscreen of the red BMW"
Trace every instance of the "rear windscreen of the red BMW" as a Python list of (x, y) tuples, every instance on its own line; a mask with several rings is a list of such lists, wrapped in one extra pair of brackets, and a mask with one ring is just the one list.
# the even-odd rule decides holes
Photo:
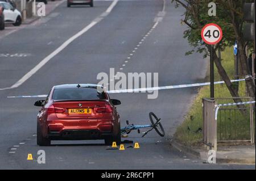
[(98, 92), (94, 88), (64, 88), (55, 89), (53, 100), (105, 100), (105, 92)]

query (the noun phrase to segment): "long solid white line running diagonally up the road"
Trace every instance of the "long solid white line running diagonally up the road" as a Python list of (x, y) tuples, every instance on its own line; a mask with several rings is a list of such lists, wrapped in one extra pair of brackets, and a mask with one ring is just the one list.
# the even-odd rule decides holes
[[(115, 7), (115, 5), (117, 5), (118, 0), (114, 0), (111, 5), (108, 7), (108, 9), (106, 10), (106, 14), (108, 15), (113, 8)], [(72, 37), (70, 37), (67, 41), (65, 41), (62, 45), (60, 45), (59, 48), (57, 48), (56, 50), (54, 50), (51, 54), (49, 54), (46, 58), (44, 58), (42, 61), (39, 62), (38, 65), (36, 65), (33, 69), (31, 69), (30, 71), (28, 71), (27, 74), (25, 74), (21, 79), (19, 79), (18, 82), (16, 82), (13, 86), (11, 87), (6, 87), (0, 90), (7, 90), (7, 89), (14, 89), (16, 87), (19, 87), (20, 85), (22, 85), (24, 82), (27, 81), (27, 79), (29, 79), (32, 75), (34, 75), (36, 73), (36, 71), (38, 71), (39, 69), (41, 69), (49, 60), (51, 60), (53, 57), (55, 57), (57, 54), (59, 54), (64, 48), (66, 48), (69, 44), (71, 44), (74, 40), (76, 40), (78, 37), (80, 37), (82, 34), (84, 34), (85, 32), (87, 32), (88, 30), (90, 30), (90, 28), (92, 28), (93, 26), (95, 26), (98, 22), (100, 22), (103, 18), (96, 18), (95, 20), (93, 20), (88, 26), (86, 26), (84, 29), (82, 29), (80, 32), (76, 33), (76, 35), (73, 35)]]

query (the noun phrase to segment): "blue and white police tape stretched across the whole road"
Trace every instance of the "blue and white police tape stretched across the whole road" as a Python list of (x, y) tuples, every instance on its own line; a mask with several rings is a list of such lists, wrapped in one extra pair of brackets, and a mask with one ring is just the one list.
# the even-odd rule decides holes
[[(240, 82), (245, 81), (245, 79), (232, 80), (231, 82)], [(214, 82), (214, 85), (224, 83), (224, 81)], [(156, 91), (156, 90), (167, 90), (167, 89), (179, 89), (187, 87), (200, 87), (200, 86), (209, 86), (210, 82), (204, 83), (192, 83), (184, 85), (174, 85), (174, 86), (162, 86), (162, 87), (149, 87), (149, 88), (140, 88), (140, 89), (124, 89), (124, 90), (110, 90), (107, 91), (109, 94), (114, 93), (130, 93), (130, 92), (146, 92), (146, 91)], [(47, 95), (20, 95), (20, 96), (7, 96), (7, 98), (45, 98)]]

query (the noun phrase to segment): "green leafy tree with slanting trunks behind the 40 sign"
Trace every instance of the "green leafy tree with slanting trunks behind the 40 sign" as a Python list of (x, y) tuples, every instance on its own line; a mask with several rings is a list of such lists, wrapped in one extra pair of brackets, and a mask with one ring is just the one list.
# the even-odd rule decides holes
[[(239, 96), (238, 91), (234, 89), (230, 82), (229, 76), (222, 67), (221, 62), (217, 58), (216, 50), (220, 48), (224, 50), (226, 47), (234, 45), (238, 41), (238, 49), (240, 50), (240, 61), (242, 74), (249, 74), (249, 66), (247, 65), (247, 57), (245, 53), (246, 45), (252, 47), (252, 43), (243, 39), (243, 5), (245, 2), (254, 2), (253, 0), (172, 0), (176, 7), (183, 6), (185, 9), (181, 24), (185, 24), (188, 28), (184, 31), (184, 38), (188, 40), (192, 50), (186, 54), (193, 52), (203, 53), (204, 57), (209, 55), (210, 46), (205, 44), (201, 39), (201, 30), (208, 23), (216, 23), (221, 27), (223, 37), (220, 43), (214, 47), (214, 62), (217, 66), (218, 73), (225, 81), (232, 96)], [(209, 16), (208, 7), (210, 2), (216, 3), (216, 16)], [(249, 95), (255, 98), (255, 85), (252, 80), (246, 81)]]

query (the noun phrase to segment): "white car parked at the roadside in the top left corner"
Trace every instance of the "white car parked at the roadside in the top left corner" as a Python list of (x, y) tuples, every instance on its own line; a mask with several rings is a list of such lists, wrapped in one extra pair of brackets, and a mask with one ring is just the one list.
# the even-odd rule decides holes
[(14, 26), (20, 26), (22, 24), (22, 15), (13, 5), (0, 1), (0, 6), (3, 8), (5, 23), (12, 23)]

